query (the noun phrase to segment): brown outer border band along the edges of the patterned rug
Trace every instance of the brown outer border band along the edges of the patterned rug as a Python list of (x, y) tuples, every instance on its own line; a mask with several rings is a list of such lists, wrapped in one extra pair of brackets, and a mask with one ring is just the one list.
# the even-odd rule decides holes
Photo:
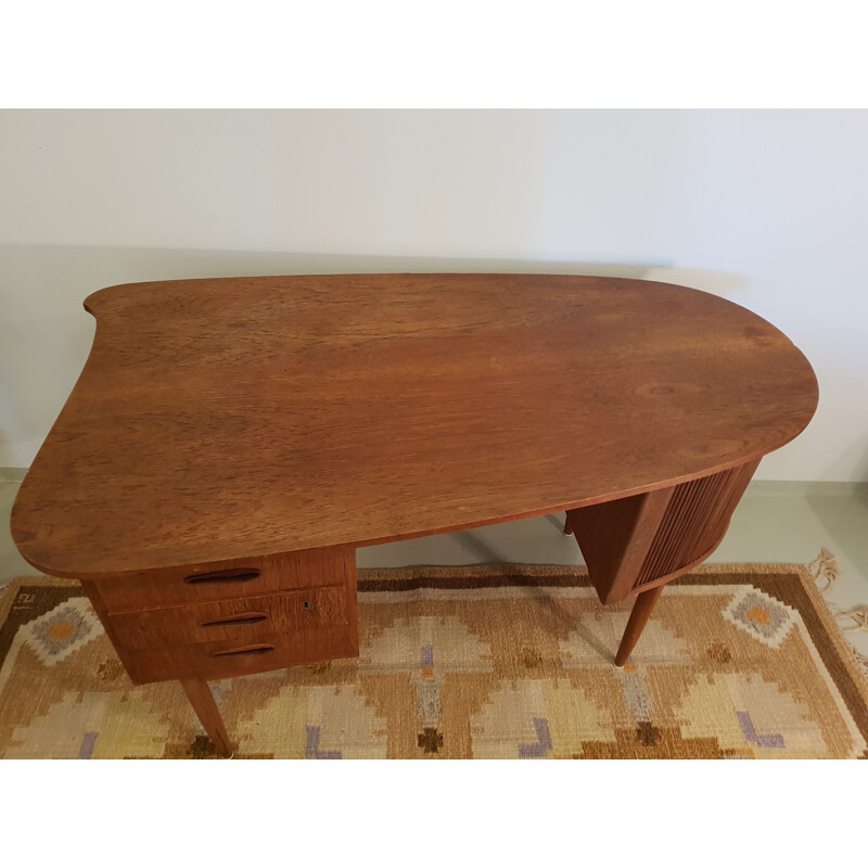
[[(522, 564), (522, 563), (501, 563), (501, 564), (461, 564), (457, 566), (396, 566), (396, 567), (361, 567), (358, 573), (363, 574), (365, 578), (373, 579), (404, 579), (413, 578), (420, 573), (432, 576), (433, 578), (455, 578), (472, 570), (477, 575), (524, 575), (545, 578), (546, 576), (564, 575), (564, 573), (582, 578), (587, 578), (588, 570), (586, 566), (559, 566), (557, 564)], [(735, 575), (775, 575), (778, 573), (791, 573), (802, 580), (814, 609), (817, 612), (822, 626), (826, 628), (835, 651), (842, 663), (853, 678), (853, 682), (863, 699), (868, 704), (868, 673), (865, 672), (859, 663), (856, 649), (847, 641), (841, 630), (841, 625), (835, 621), (829, 610), (829, 601), (824, 597), (817, 587), (817, 580), (807, 566), (801, 563), (703, 563), (693, 567), (688, 575), (714, 575), (715, 573), (732, 573)], [(9, 582), (0, 589), (0, 625), (5, 622), (12, 601), (15, 599), (16, 591), (23, 584), (51, 587), (80, 587), (81, 583), (74, 578), (54, 578), (52, 576), (18, 576)], [(363, 591), (360, 592), (363, 596)]]

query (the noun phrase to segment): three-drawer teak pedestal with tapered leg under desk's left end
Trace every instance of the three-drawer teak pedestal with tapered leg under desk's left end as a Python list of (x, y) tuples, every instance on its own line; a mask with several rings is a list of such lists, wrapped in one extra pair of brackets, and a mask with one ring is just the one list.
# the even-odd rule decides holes
[(227, 756), (208, 680), (359, 652), (356, 552), (348, 547), (81, 584), (132, 681), (180, 680)]

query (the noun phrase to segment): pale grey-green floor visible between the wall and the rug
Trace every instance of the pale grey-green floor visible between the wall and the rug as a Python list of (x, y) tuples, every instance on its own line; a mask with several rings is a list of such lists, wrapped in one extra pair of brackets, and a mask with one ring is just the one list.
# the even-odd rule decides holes
[[(37, 572), (17, 553), (9, 515), (21, 483), (0, 478), (0, 586)], [(359, 567), (470, 563), (583, 563), (575, 539), (561, 532), (563, 514), (358, 550)], [(868, 484), (754, 482), (710, 561), (808, 564), (828, 549), (840, 578), (829, 599), (868, 604)], [(842, 622), (845, 626), (852, 622)], [(868, 633), (850, 634), (868, 654)]]

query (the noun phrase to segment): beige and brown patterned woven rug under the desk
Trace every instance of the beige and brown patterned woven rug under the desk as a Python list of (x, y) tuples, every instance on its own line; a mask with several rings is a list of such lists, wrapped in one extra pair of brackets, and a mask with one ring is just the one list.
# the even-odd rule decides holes
[[(579, 567), (360, 571), (358, 660), (215, 684), (237, 757), (868, 757), (868, 682), (815, 576), (704, 565), (630, 662)], [(80, 587), (0, 600), (0, 756), (208, 757), (180, 686), (133, 687)]]

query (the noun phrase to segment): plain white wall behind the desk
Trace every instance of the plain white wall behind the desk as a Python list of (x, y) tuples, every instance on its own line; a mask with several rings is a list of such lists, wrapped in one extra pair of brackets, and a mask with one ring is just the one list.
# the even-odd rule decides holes
[(868, 480), (868, 112), (0, 112), (0, 467), (91, 291), (239, 273), (648, 277), (769, 319), (820, 381), (766, 480)]

